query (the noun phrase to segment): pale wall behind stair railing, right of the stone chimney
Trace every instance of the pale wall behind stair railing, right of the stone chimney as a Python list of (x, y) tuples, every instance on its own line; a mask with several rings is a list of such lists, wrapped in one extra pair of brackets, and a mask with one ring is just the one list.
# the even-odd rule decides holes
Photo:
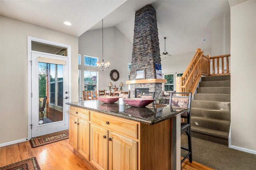
[[(204, 51), (204, 55), (212, 55), (211, 48), (202, 49), (202, 51)], [(174, 74), (174, 90), (176, 90), (176, 73), (184, 73), (195, 53), (196, 50), (194, 52), (174, 55), (171, 57), (162, 57), (161, 63), (163, 74)]]

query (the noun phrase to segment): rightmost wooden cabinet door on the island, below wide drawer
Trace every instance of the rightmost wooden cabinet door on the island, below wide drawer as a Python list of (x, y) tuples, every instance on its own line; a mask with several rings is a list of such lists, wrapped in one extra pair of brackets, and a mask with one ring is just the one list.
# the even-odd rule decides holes
[(138, 142), (109, 132), (109, 170), (137, 170)]

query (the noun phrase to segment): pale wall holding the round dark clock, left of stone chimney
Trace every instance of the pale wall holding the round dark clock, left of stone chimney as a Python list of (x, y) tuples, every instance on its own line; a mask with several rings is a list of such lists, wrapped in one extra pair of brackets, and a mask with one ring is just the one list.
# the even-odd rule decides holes
[[(98, 57), (102, 59), (102, 29), (87, 31), (78, 37), (78, 51), (81, 54), (81, 65), (84, 65), (84, 55)], [(116, 28), (104, 28), (104, 60), (110, 62), (110, 67), (105, 71), (100, 71), (96, 67), (85, 66), (86, 70), (98, 71), (98, 89), (108, 90), (108, 82), (119, 87), (120, 82), (125, 86), (123, 91), (128, 91), (128, 63), (132, 60), (132, 43), (130, 43), (124, 35)], [(110, 79), (110, 71), (116, 69), (120, 78), (114, 82)], [(81, 70), (82, 80), (84, 78), (83, 70)], [(120, 88), (120, 87), (119, 87)], [(81, 85), (81, 91), (84, 87)], [(81, 94), (82, 96), (82, 94)]]

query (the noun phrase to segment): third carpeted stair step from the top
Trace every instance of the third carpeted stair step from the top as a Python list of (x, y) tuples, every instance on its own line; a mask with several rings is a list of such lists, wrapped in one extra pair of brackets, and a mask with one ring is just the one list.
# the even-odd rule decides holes
[(198, 87), (197, 93), (230, 94), (230, 87)]

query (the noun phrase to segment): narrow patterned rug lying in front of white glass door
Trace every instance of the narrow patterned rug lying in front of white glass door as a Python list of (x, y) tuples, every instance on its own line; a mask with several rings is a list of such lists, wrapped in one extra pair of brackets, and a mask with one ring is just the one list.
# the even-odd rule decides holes
[(30, 139), (30, 145), (32, 148), (36, 148), (39, 146), (43, 146), (46, 144), (58, 142), (60, 140), (65, 140), (68, 139), (68, 130), (56, 132), (56, 133), (51, 133), (51, 134), (46, 134), (43, 136), (38, 136), (36, 138)]

